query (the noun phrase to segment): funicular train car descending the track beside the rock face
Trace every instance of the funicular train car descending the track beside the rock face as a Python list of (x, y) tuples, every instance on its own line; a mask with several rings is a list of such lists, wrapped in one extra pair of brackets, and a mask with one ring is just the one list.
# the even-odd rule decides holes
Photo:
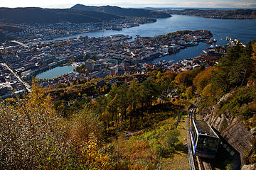
[(192, 120), (191, 142), (193, 154), (213, 159), (218, 149), (219, 137), (205, 121)]

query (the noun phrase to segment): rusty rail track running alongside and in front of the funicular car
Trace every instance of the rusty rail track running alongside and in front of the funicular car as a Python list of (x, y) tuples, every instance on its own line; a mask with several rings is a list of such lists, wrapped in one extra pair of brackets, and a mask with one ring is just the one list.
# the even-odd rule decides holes
[(188, 117), (186, 120), (187, 128), (187, 142), (188, 142), (188, 161), (191, 170), (214, 170), (214, 166), (211, 164), (210, 159), (205, 159), (193, 155), (193, 147), (191, 146), (190, 127), (191, 119), (196, 120), (196, 108), (198, 107), (200, 100), (197, 98), (195, 103), (188, 108)]

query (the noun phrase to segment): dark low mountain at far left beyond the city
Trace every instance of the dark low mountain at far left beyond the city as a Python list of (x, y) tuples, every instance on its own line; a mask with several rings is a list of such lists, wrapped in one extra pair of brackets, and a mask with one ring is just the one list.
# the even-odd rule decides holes
[(95, 23), (113, 18), (120, 16), (70, 8), (0, 8), (0, 23)]

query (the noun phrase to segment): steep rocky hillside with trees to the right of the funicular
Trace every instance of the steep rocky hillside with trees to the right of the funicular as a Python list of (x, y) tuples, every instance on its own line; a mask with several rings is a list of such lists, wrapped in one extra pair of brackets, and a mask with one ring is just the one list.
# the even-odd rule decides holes
[[(242, 165), (256, 162), (255, 52), (256, 40), (246, 47), (230, 47), (216, 67), (204, 70), (193, 79), (201, 95), (201, 120), (218, 130), (239, 152)], [(230, 164), (235, 167), (233, 159)]]

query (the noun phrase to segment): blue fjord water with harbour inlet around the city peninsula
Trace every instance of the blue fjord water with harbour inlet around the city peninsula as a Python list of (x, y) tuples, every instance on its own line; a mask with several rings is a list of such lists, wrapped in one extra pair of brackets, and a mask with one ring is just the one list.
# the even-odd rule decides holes
[[(218, 45), (225, 45), (227, 43), (225, 40), (226, 36), (233, 39), (236, 38), (242, 43), (247, 44), (247, 42), (256, 38), (256, 20), (213, 19), (198, 16), (174, 15), (170, 18), (159, 18), (155, 23), (146, 23), (133, 28), (123, 28), (122, 31), (101, 30), (93, 33), (82, 33), (79, 35), (102, 37), (114, 34), (124, 34), (132, 35), (132, 37), (135, 38), (136, 35), (140, 35), (142, 37), (154, 37), (156, 35), (175, 32), (176, 30), (210, 30), (210, 32), (213, 33), (213, 38), (218, 40), (216, 43)], [(54, 40), (65, 40), (77, 37), (78, 35), (70, 35), (65, 38), (55, 38)], [(174, 62), (177, 62), (178, 60), (196, 57), (206, 47), (208, 47), (206, 43), (201, 42), (198, 46), (188, 47), (184, 50), (180, 50), (176, 54), (156, 58), (151, 62), (159, 62), (160, 60), (174, 60)], [(70, 71), (67, 70), (67, 72), (64, 73), (68, 72)], [(44, 72), (43, 74), (48, 74), (48, 72)], [(41, 76), (43, 76), (43, 74), (41, 74)], [(50, 74), (48, 75), (50, 76)]]

